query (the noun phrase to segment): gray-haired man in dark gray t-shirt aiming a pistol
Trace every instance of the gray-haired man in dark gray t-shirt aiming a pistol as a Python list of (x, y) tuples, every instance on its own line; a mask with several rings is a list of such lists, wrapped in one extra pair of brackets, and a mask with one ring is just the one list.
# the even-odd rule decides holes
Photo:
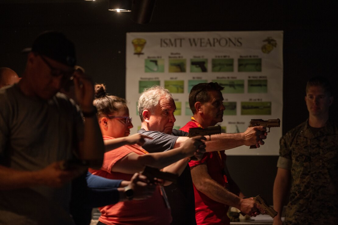
[[(138, 101), (141, 130), (138, 132), (152, 137), (143, 145), (148, 152), (170, 150), (188, 139), (188, 133), (173, 129), (176, 109), (172, 94), (161, 86), (143, 91)], [(214, 135), (206, 142), (207, 151), (231, 149), (241, 145), (264, 144), (266, 129), (263, 126), (248, 128), (244, 133)], [(207, 140), (210, 138), (206, 136)], [(172, 224), (196, 224), (194, 190), (189, 166), (186, 167), (176, 185), (166, 187), (171, 204)]]

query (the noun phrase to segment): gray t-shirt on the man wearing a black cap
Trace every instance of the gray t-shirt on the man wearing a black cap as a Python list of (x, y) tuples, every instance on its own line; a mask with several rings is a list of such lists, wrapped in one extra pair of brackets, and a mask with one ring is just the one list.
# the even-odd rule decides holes
[[(24, 171), (73, 157), (83, 139), (78, 107), (64, 94), (50, 100), (24, 95), (18, 85), (0, 89), (0, 165)], [(0, 224), (68, 224), (70, 184), (0, 191)], [(3, 222), (5, 221), (5, 222)], [(43, 223), (41, 223), (44, 221)]]

